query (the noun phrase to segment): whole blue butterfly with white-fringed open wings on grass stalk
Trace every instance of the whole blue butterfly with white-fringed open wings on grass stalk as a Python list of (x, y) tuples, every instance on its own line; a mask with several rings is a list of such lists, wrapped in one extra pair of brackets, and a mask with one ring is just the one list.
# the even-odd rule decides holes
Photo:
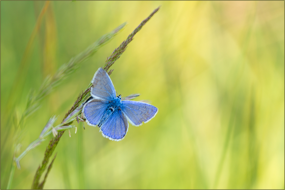
[(122, 101), (121, 95), (116, 96), (109, 75), (101, 67), (91, 83), (92, 99), (84, 104), (83, 116), (88, 125), (101, 127), (103, 137), (120, 141), (127, 134), (128, 121), (139, 126), (150, 121), (158, 112), (158, 108), (144, 102)]

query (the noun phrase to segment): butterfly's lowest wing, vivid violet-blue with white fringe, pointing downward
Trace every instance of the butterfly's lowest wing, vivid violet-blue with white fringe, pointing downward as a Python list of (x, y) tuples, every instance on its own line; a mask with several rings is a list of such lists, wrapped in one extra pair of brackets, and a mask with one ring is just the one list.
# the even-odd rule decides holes
[(123, 111), (117, 110), (101, 126), (102, 135), (113, 141), (122, 140), (127, 134), (129, 123)]

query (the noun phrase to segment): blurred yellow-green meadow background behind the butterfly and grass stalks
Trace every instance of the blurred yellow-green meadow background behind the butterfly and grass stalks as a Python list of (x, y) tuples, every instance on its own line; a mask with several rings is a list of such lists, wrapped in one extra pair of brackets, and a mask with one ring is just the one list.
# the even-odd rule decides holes
[[(52, 115), (61, 122), (95, 71), (159, 5), (110, 76), (119, 94), (140, 93), (135, 100), (150, 100), (158, 114), (130, 125), (119, 142), (76, 123), (77, 133), (64, 133), (56, 147), (44, 188), (284, 189), (284, 1), (54, 1), (24, 69), (44, 1), (1, 1), (1, 189), (30, 89), (128, 22), (24, 121), (20, 153)], [(20, 161), (11, 188), (31, 187), (51, 138)]]

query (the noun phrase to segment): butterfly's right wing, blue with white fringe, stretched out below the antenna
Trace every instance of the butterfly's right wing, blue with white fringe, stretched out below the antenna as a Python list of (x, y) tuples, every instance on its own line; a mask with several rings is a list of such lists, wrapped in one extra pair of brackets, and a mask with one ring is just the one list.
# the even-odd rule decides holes
[(122, 111), (132, 125), (139, 126), (150, 121), (158, 112), (158, 108), (144, 102), (122, 101)]

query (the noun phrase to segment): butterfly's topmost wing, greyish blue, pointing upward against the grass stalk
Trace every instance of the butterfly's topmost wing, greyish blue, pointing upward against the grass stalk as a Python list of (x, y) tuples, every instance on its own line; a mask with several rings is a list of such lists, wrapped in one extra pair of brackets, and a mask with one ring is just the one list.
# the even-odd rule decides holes
[(104, 69), (96, 71), (92, 79), (91, 95), (97, 99), (112, 100), (116, 97), (114, 85)]

